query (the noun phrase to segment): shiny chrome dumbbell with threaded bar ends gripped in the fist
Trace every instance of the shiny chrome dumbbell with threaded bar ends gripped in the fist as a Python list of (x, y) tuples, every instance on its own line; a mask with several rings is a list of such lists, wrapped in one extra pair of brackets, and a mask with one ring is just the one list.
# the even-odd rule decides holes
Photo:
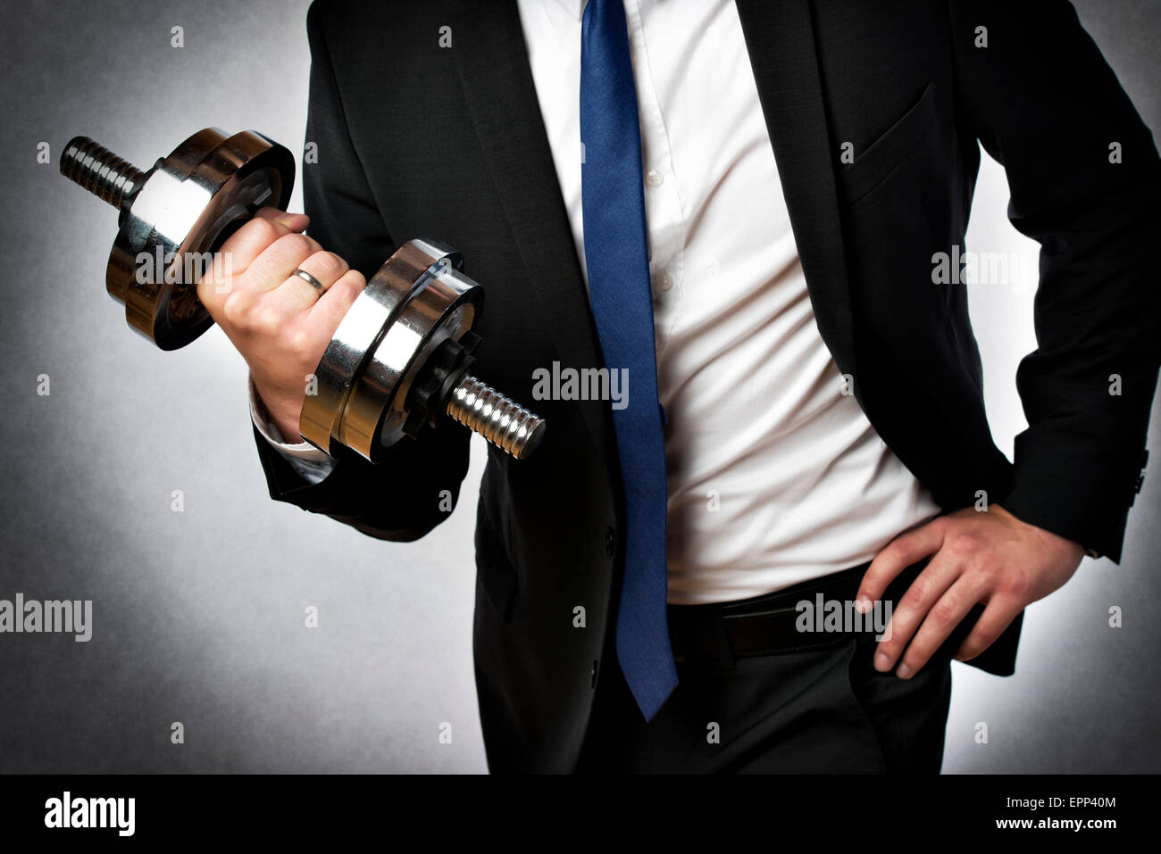
[[(197, 280), (259, 208), (286, 209), (294, 158), (260, 133), (209, 128), (147, 172), (75, 137), (60, 173), (120, 211), (106, 287), (134, 330), (172, 350), (214, 324)], [(518, 459), (535, 450), (543, 419), (469, 372), (484, 291), (462, 266), (455, 249), (418, 238), (372, 276), (318, 363), (317, 388), (308, 389), (300, 417), (308, 442), (378, 462), (403, 435), (448, 414)]]

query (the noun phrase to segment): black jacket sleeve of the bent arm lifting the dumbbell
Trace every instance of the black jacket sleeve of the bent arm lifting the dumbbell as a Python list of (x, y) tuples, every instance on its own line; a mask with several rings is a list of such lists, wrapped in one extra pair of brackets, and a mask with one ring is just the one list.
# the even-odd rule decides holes
[[(308, 13), (307, 32), (311, 51), (307, 142), (318, 146), (317, 162), (303, 168), (309, 233), (369, 276), (395, 244), (347, 133), (318, 3)], [(397, 442), (377, 465), (351, 454), (338, 459), (320, 483), (311, 484), (254, 427), (271, 498), (396, 541), (418, 540), (450, 515), (468, 470), (469, 435), (464, 427), (444, 419), (419, 439)]]

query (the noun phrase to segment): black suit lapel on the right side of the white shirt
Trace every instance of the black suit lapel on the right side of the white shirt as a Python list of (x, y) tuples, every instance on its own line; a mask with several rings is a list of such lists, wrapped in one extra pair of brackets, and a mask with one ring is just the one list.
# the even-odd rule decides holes
[(815, 320), (839, 370), (853, 376), (851, 302), (835, 186), (837, 149), (823, 110), (810, 0), (736, 3)]

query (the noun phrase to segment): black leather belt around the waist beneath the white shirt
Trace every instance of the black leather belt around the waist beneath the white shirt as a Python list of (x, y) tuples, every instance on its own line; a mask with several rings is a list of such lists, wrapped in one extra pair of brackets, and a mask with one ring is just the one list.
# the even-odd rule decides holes
[[(902, 594), (926, 562), (909, 566), (887, 588), (884, 602), (892, 602)], [(803, 650), (832, 646), (851, 637), (874, 637), (882, 630), (873, 620), (861, 620), (861, 627), (850, 621), (839, 630), (817, 630), (813, 613), (802, 618), (799, 603), (808, 601), (817, 609), (819, 596), (823, 603), (837, 601), (845, 606), (853, 602), (859, 582), (870, 564), (843, 570), (824, 578), (776, 591), (753, 599), (713, 605), (670, 605), (669, 634), (673, 659), (683, 661), (717, 661), (731, 667), (735, 658), (774, 656)], [(880, 615), (887, 615), (880, 606)], [(879, 622), (882, 622), (880, 617)], [(808, 630), (801, 630), (806, 623)]]

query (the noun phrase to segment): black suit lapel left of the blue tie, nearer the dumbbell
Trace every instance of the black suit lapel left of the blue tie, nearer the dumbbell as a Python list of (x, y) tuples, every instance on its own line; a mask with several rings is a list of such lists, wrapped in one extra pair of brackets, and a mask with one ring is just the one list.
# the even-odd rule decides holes
[[(511, 0), (453, 0), (450, 6), (455, 61), (476, 136), (528, 270), (534, 294), (529, 310), (550, 331), (564, 366), (599, 367), (604, 362), (597, 327), (540, 115), (517, 5)], [(607, 401), (576, 404), (592, 435), (606, 439), (611, 430)]]

